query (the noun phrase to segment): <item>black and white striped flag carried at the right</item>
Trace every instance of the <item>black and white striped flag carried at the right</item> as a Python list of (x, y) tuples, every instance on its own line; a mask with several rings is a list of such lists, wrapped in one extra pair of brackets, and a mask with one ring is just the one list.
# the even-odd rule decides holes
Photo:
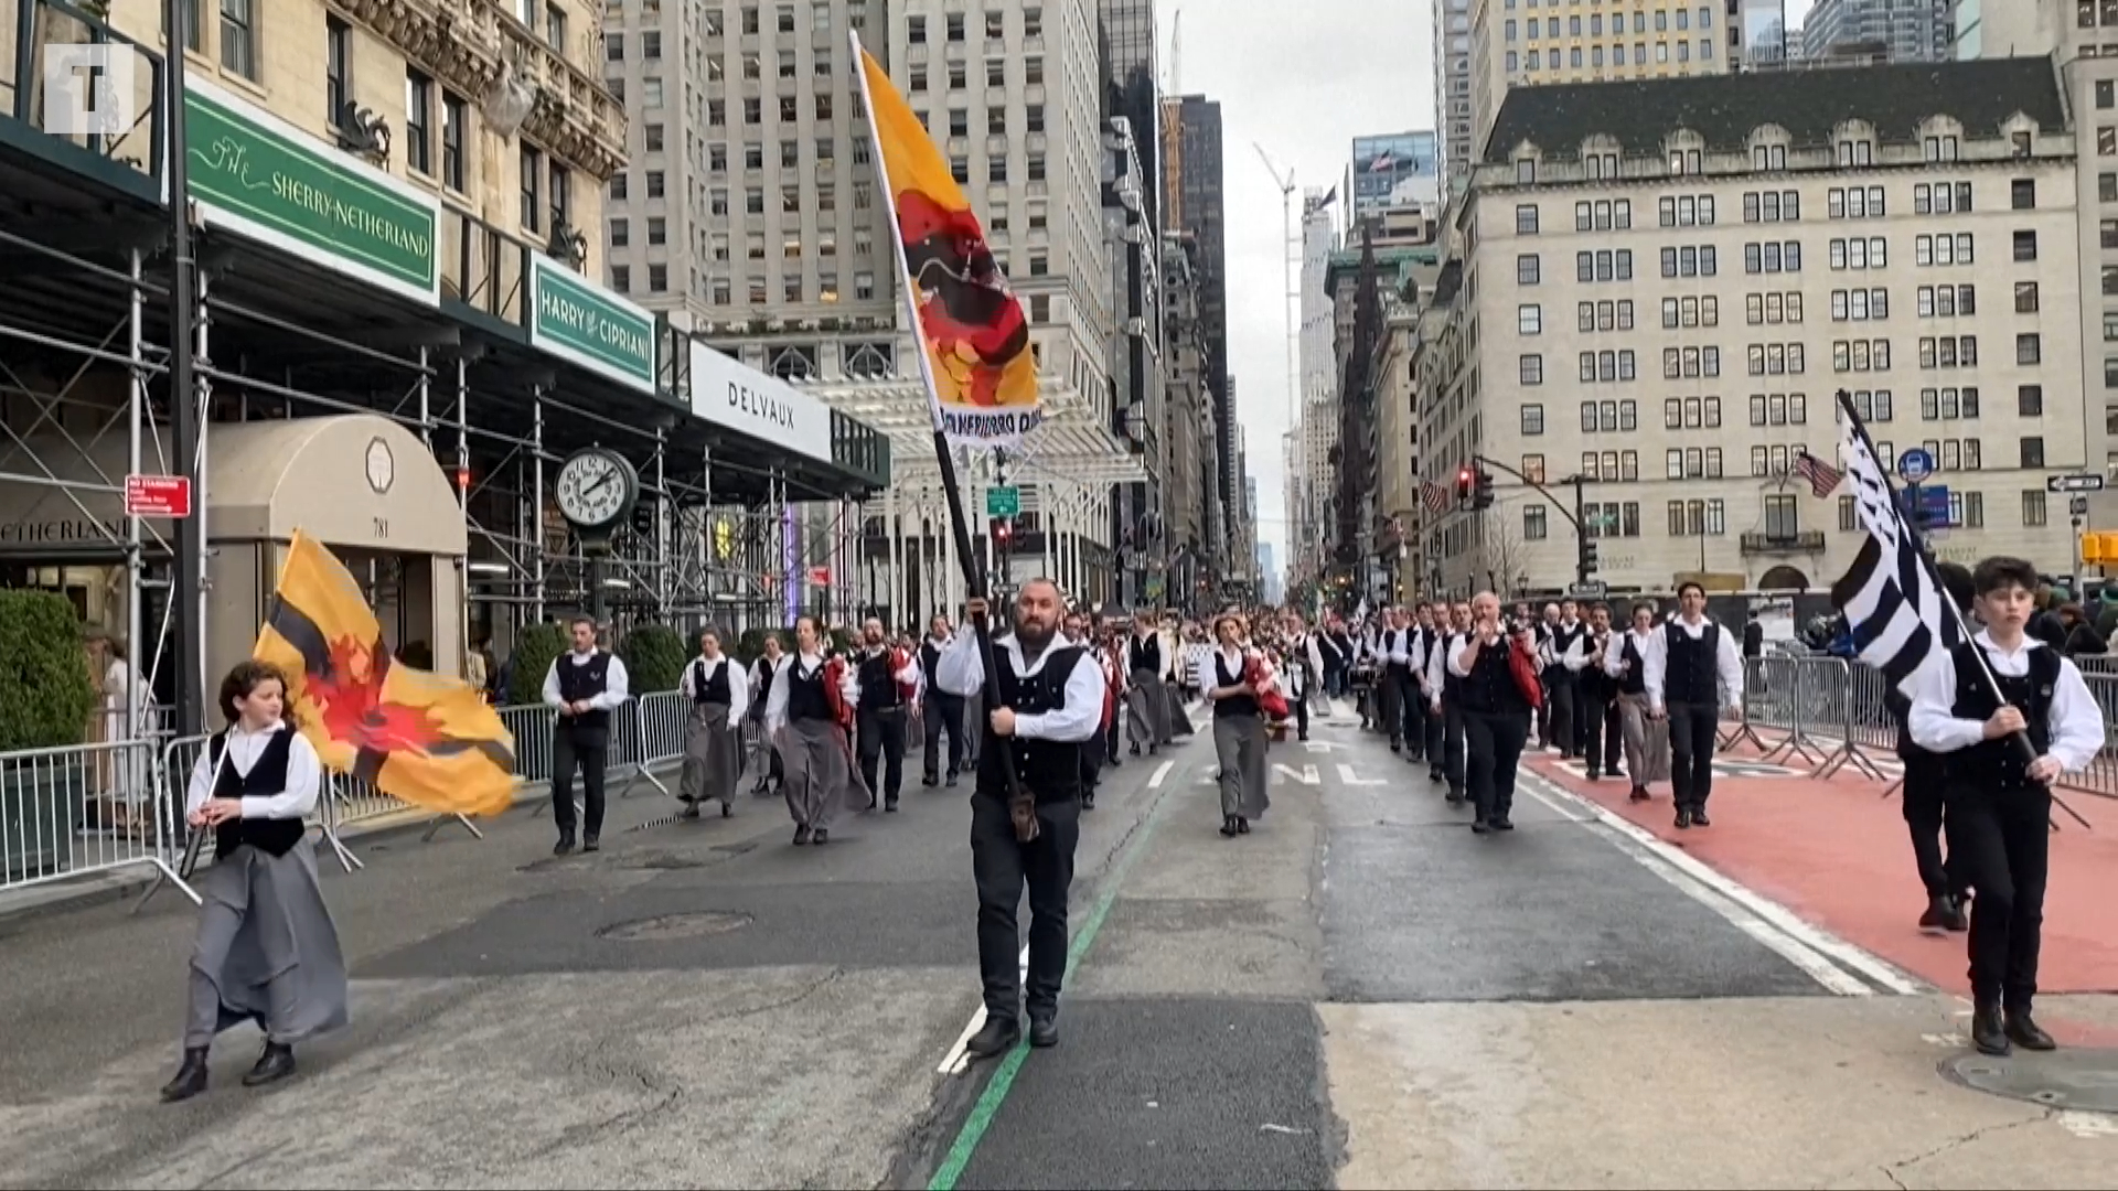
[(1910, 695), (1910, 678), (1938, 651), (1963, 640), (1957, 606), (1934, 574), (1934, 564), (1919, 549), (1919, 538), (1898, 511), (1889, 477), (1868, 441), (1868, 428), (1845, 390), (1838, 390), (1845, 424), (1845, 479), (1851, 485), (1853, 511), (1868, 540), (1851, 570), (1832, 585), (1832, 604), (1847, 615), (1853, 648), (1860, 659), (1879, 668), (1889, 685)]

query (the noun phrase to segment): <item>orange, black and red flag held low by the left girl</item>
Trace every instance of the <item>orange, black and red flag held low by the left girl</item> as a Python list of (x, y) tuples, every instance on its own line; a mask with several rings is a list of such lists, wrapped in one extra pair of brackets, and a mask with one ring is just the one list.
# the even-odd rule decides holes
[(288, 714), (333, 774), (436, 814), (515, 801), (515, 735), (477, 689), (402, 665), (345, 566), (294, 532), (258, 661), (286, 674)]

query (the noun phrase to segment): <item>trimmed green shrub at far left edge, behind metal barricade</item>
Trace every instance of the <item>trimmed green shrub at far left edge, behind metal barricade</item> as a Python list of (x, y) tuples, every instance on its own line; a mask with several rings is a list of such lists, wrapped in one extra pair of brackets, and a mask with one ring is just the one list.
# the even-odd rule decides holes
[(0, 752), (80, 744), (95, 682), (66, 596), (0, 591)]

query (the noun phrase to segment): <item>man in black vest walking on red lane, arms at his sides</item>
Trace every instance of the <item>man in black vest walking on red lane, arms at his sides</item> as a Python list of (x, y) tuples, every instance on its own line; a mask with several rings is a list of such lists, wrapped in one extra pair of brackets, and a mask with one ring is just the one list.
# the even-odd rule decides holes
[(1680, 583), (1677, 608), (1677, 619), (1648, 638), (1641, 657), (1648, 714), (1669, 723), (1669, 788), (1677, 803), (1677, 826), (1713, 826), (1707, 818), (1713, 733), (1720, 727), (1722, 691), (1737, 716), (1743, 714), (1743, 659), (1735, 636), (1707, 619), (1705, 587)]

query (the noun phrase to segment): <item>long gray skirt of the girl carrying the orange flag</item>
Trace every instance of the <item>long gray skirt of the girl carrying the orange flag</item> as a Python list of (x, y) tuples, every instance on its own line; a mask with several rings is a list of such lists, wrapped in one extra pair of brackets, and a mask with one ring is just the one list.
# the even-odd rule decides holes
[(345, 1026), (345, 956), (307, 839), (286, 856), (237, 848), (193, 888), (203, 907), (191, 947), (186, 1047), (241, 1021), (286, 1045)]

